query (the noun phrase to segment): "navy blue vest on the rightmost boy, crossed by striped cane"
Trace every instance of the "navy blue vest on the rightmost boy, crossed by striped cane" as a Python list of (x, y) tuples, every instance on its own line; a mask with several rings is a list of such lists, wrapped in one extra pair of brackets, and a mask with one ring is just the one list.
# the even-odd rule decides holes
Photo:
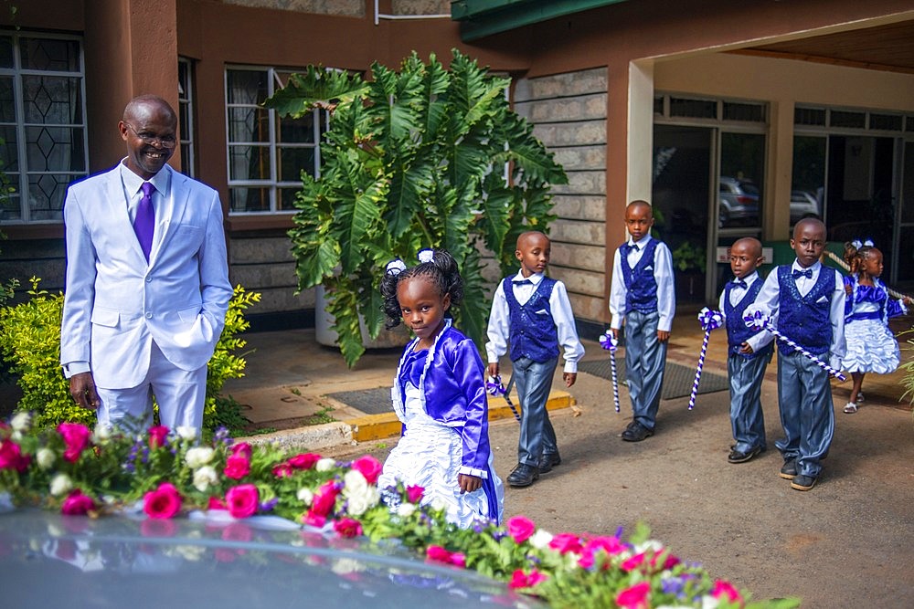
[[(778, 267), (778, 330), (813, 355), (828, 352), (832, 345), (832, 292), (834, 292), (834, 268), (819, 268), (819, 277), (813, 289), (806, 296), (800, 296), (796, 281), (793, 280), (791, 265)], [(822, 299), (822, 302), (817, 300)], [(793, 348), (778, 343), (781, 355), (789, 355)]]

